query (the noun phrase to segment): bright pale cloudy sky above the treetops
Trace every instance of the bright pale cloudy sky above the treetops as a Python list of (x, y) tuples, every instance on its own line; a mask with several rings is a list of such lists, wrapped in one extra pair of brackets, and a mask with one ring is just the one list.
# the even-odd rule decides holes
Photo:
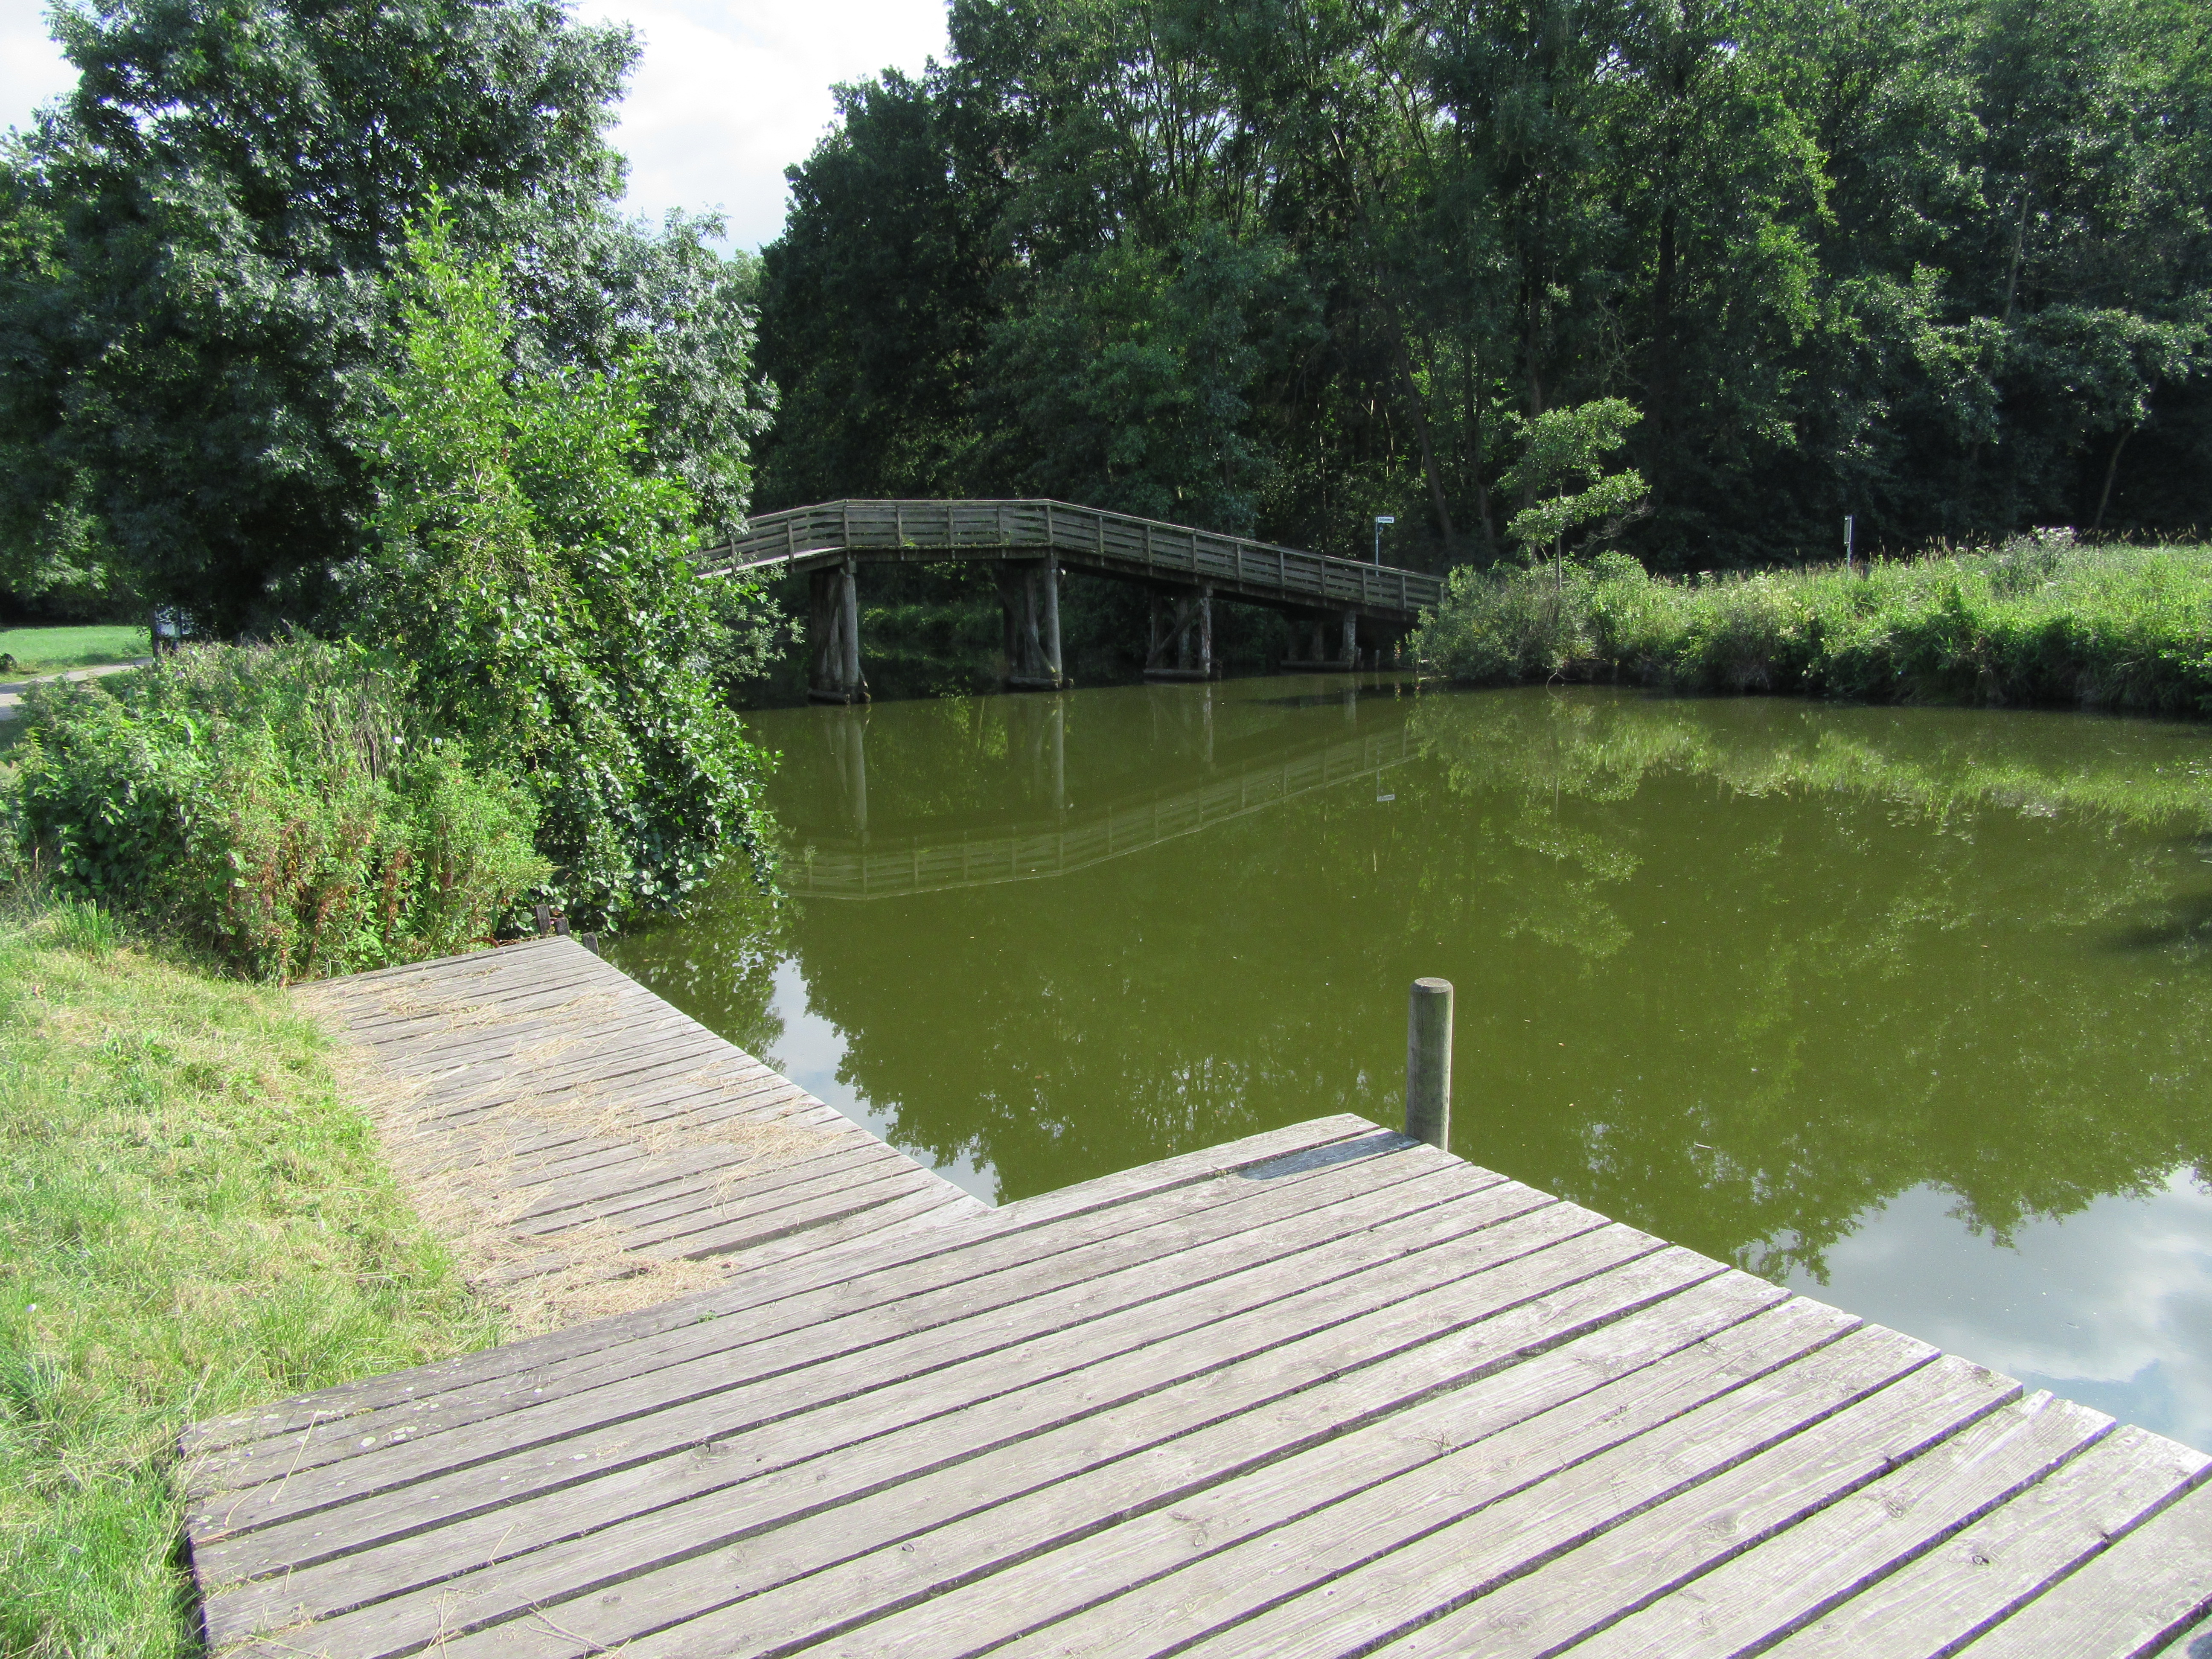
[[(830, 126), (836, 82), (945, 55), (945, 0), (580, 0), (577, 15), (630, 22), (644, 42), (615, 133), (626, 208), (719, 208), (737, 248), (783, 228), (783, 168)], [(0, 0), (0, 126), (71, 82), (44, 0)]]

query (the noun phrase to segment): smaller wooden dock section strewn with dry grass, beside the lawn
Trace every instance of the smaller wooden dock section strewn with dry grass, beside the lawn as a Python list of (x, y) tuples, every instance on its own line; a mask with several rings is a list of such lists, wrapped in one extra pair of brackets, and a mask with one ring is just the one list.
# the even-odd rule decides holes
[(987, 1214), (571, 938), (294, 995), (469, 1276), (540, 1323)]

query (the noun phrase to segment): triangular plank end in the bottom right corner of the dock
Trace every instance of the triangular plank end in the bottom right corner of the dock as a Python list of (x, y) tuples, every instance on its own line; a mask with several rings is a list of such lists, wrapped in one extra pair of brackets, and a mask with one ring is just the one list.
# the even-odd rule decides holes
[(1962, 1659), (2139, 1659), (2212, 1613), (2212, 1486), (2068, 1573)]

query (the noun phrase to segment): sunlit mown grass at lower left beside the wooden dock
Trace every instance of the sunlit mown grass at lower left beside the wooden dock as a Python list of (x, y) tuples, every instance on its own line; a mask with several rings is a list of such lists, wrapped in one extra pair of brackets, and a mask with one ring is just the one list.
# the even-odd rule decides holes
[(177, 1431), (498, 1334), (283, 993), (0, 916), (0, 1652), (195, 1652)]

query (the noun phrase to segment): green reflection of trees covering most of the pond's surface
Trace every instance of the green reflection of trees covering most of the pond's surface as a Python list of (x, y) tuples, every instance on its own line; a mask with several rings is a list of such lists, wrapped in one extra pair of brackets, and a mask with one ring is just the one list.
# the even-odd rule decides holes
[[(1287, 712), (1281, 741), (1312, 719), (1336, 712)], [(1332, 1110), (1389, 1121), (1405, 982), (1442, 971), (1460, 1152), (1763, 1272), (1818, 1272), (1922, 1181), (2002, 1237), (2212, 1172), (2194, 732), (1606, 692), (1411, 719), (1425, 759), (1389, 805), (1329, 790), (1057, 880), (810, 905), (790, 949), (847, 1079), (902, 1146), (1020, 1197)], [(998, 730), (951, 737), (1004, 768)], [(876, 801), (920, 790), (878, 783), (887, 748)], [(1177, 763), (1203, 765), (1197, 732)], [(748, 1042), (779, 949), (748, 927), (624, 964), (650, 945), (637, 971)]]

